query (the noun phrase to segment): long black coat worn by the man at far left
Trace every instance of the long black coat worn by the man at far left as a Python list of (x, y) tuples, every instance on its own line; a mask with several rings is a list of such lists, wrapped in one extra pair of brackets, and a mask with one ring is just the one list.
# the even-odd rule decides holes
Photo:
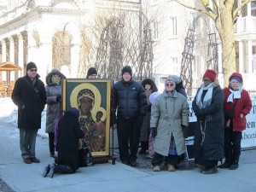
[[(44, 83), (36, 76), (33, 85), (26, 75), (15, 82), (12, 100), (18, 106), (18, 128), (25, 130), (38, 130), (41, 128), (41, 113), (46, 103)], [(36, 88), (36, 90), (34, 90)]]

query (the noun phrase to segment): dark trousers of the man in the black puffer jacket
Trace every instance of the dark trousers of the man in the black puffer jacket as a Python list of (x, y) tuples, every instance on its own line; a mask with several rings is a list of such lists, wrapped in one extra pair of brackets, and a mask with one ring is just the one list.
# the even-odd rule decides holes
[(119, 119), (117, 133), (121, 161), (137, 160), (140, 131), (140, 126), (137, 125), (137, 119)]

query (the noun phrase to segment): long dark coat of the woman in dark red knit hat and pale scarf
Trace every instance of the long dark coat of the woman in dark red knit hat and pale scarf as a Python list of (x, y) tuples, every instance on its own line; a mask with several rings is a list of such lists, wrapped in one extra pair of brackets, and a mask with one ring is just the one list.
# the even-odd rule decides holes
[[(218, 80), (216, 80), (213, 83), (211, 104), (200, 109), (196, 105), (199, 90), (192, 102), (192, 108), (197, 118), (194, 143), (195, 158), (222, 160), (224, 158), (224, 93), (218, 84)], [(205, 139), (202, 144), (201, 128), (205, 129)]]

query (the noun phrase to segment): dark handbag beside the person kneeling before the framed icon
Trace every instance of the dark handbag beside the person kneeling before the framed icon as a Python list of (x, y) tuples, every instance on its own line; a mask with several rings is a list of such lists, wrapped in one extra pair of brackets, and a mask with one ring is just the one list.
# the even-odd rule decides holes
[(94, 166), (90, 146), (82, 139), (82, 148), (79, 149), (79, 167)]

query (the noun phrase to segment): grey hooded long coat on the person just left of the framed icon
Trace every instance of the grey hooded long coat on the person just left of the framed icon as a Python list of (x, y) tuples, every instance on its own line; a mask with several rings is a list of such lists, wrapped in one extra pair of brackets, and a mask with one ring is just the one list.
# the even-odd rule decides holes
[(60, 117), (61, 113), (61, 103), (57, 101), (57, 96), (61, 96), (61, 84), (55, 84), (51, 81), (51, 77), (53, 74), (57, 74), (61, 77), (61, 79), (65, 79), (65, 76), (60, 73), (57, 69), (53, 69), (47, 76), (46, 76), (46, 104), (47, 104), (47, 111), (46, 111), (46, 127), (45, 132), (54, 132), (54, 122), (55, 119)]

